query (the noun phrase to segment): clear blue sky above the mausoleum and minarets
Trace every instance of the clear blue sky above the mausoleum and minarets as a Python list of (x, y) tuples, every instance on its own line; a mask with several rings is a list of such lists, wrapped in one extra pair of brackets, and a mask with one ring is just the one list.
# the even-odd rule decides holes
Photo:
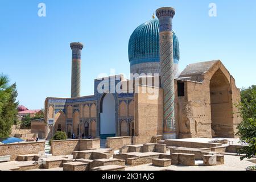
[[(46, 4), (46, 17), (38, 4)], [(217, 17), (208, 15), (216, 3)], [(71, 49), (82, 42), (81, 96), (93, 94), (100, 73), (129, 74), (128, 42), (139, 24), (163, 6), (176, 9), (180, 70), (220, 59), (238, 88), (256, 84), (256, 1), (252, 0), (27, 0), (0, 1), (0, 73), (16, 82), (18, 100), (29, 109), (46, 97), (70, 97)]]

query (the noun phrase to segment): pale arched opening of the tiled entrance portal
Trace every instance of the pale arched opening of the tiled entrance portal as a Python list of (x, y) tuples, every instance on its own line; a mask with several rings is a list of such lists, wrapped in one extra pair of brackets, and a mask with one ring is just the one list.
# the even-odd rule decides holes
[(113, 94), (105, 94), (101, 99), (100, 121), (101, 139), (115, 137), (115, 98)]

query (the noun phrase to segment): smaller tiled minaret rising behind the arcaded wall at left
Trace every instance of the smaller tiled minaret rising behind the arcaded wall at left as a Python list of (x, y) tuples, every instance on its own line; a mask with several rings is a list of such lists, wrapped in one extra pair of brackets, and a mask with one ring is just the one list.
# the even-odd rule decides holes
[(81, 51), (84, 47), (80, 42), (70, 44), (72, 49), (71, 98), (80, 97)]

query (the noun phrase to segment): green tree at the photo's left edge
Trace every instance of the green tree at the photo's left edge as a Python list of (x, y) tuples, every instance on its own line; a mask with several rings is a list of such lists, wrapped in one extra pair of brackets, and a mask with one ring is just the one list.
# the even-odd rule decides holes
[(0, 138), (9, 137), (11, 126), (17, 122), (18, 102), (16, 84), (9, 86), (7, 76), (0, 75)]

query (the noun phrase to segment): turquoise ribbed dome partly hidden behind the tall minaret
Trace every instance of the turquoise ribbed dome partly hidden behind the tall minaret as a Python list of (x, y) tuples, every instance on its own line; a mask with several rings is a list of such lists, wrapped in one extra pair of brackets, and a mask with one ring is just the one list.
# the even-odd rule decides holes
[[(180, 59), (179, 41), (175, 32), (174, 39), (174, 62)], [(159, 20), (152, 19), (137, 27), (129, 40), (129, 61), (131, 65), (148, 62), (159, 62)]]

